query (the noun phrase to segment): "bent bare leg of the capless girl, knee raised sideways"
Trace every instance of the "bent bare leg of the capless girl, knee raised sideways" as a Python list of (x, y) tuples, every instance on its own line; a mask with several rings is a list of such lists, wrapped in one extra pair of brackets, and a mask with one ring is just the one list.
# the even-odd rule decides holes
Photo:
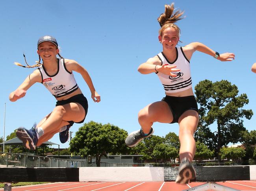
[(139, 111), (139, 124), (144, 133), (149, 133), (154, 122), (171, 123), (173, 114), (164, 101), (154, 102)]

